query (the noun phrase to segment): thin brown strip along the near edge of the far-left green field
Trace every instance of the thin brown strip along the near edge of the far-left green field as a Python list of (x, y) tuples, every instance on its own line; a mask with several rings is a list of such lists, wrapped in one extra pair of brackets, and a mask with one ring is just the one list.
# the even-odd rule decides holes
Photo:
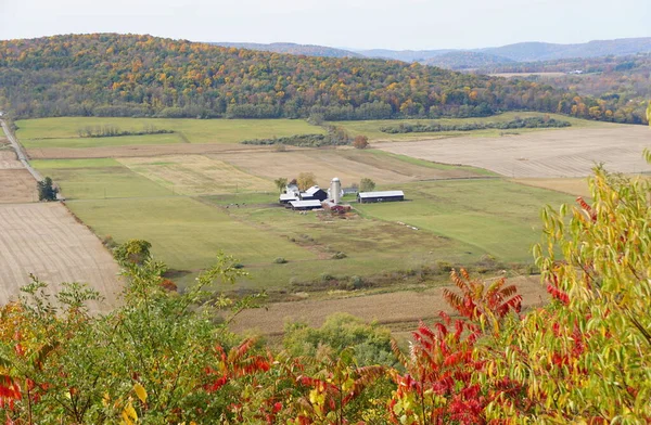
[(136, 156), (161, 156), (183, 154), (216, 154), (225, 152), (268, 151), (255, 145), (245, 144), (151, 144), (132, 146), (102, 147), (41, 147), (28, 149), (27, 156), (31, 159), (84, 159), (84, 158), (127, 158)]

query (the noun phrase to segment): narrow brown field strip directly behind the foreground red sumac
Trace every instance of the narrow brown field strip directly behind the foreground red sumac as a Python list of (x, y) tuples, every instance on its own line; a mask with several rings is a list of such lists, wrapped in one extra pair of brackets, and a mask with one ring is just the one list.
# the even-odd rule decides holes
[[(539, 276), (514, 278), (509, 282), (518, 287), (525, 307), (541, 305), (548, 296)], [(232, 322), (230, 329), (239, 333), (280, 335), (284, 324), (303, 321), (310, 326), (320, 326), (335, 312), (347, 312), (366, 321), (376, 321), (392, 329), (416, 329), (419, 320), (431, 320), (439, 311), (454, 313), (443, 299), (443, 288), (452, 291), (455, 286), (441, 286), (423, 292), (397, 292), (352, 298), (327, 300), (301, 300), (277, 302), (264, 309), (244, 310)]]

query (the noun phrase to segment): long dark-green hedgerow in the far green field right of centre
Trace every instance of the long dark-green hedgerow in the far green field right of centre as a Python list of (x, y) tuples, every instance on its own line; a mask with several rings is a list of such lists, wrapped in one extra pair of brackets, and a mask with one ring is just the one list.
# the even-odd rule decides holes
[(518, 128), (552, 128), (570, 126), (572, 125), (567, 121), (562, 121), (549, 117), (529, 117), (516, 118), (506, 123), (464, 123), (457, 125), (401, 123), (398, 126), (381, 127), (380, 131), (390, 134), (397, 134), (409, 132), (472, 131), (486, 129), (511, 130)]

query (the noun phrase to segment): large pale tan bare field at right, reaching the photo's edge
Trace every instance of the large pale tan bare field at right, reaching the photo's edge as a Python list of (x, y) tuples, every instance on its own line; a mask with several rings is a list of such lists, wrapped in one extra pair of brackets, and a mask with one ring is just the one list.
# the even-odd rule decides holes
[(373, 147), (416, 158), (481, 167), (513, 178), (584, 177), (595, 163), (610, 171), (651, 171), (642, 159), (651, 146), (646, 126), (610, 125), (537, 131), (499, 138), (455, 138), (374, 143)]

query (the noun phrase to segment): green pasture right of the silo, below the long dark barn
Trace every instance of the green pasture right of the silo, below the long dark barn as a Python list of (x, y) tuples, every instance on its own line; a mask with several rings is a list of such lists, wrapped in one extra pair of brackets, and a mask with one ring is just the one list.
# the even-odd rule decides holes
[(456, 180), (400, 185), (407, 202), (361, 204), (365, 215), (403, 221), (424, 231), (474, 246), (507, 262), (531, 262), (539, 241), (539, 211), (573, 196), (507, 180)]

